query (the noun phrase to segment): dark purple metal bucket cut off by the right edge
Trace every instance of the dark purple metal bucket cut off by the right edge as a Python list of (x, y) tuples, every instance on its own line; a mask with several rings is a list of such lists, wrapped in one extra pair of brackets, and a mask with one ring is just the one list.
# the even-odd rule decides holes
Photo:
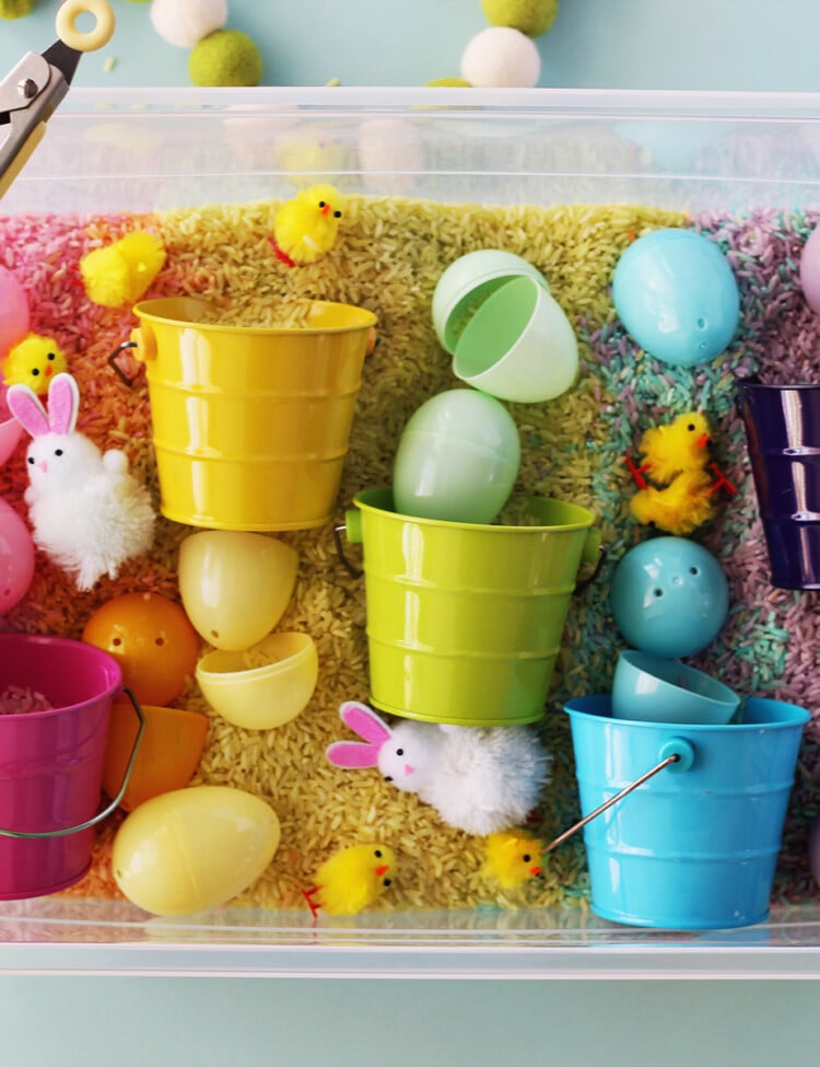
[(820, 385), (736, 384), (772, 584), (820, 589)]

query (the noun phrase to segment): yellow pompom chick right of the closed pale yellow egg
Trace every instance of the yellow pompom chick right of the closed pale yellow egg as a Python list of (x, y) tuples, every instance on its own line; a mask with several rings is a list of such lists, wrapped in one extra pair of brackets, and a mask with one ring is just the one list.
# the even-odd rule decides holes
[(393, 883), (396, 854), (387, 845), (352, 845), (335, 853), (316, 871), (316, 884), (304, 891), (314, 915), (358, 915)]

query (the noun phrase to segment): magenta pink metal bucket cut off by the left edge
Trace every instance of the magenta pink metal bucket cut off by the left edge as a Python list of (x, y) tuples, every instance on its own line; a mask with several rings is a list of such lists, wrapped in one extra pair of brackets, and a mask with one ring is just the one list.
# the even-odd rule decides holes
[(125, 793), (125, 780), (99, 811), (103, 759), (114, 699), (124, 692), (116, 660), (82, 641), (0, 634), (0, 694), (38, 693), (48, 711), (0, 715), (0, 900), (45, 896), (78, 882), (91, 866), (93, 827)]

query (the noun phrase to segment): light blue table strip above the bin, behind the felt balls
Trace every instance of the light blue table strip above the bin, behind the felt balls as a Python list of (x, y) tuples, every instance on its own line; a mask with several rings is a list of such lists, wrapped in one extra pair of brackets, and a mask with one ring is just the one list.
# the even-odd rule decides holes
[[(189, 85), (189, 53), (155, 33), (151, 5), (112, 5), (114, 39), (83, 60), (75, 83)], [(37, 0), (27, 18), (0, 21), (0, 70), (50, 44), (57, 7)], [(227, 21), (259, 46), (267, 85), (421, 85), (458, 76), (466, 45), (487, 25), (480, 0), (230, 0)], [(820, 88), (819, 38), (816, 0), (561, 0), (537, 42), (539, 84), (811, 92)]]

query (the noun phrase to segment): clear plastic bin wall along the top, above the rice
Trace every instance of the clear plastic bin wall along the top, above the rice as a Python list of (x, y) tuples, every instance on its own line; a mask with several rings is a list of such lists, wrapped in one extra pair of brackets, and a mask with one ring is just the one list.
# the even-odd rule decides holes
[(820, 95), (73, 90), (0, 210), (149, 211), (292, 194), (485, 204), (820, 204)]

